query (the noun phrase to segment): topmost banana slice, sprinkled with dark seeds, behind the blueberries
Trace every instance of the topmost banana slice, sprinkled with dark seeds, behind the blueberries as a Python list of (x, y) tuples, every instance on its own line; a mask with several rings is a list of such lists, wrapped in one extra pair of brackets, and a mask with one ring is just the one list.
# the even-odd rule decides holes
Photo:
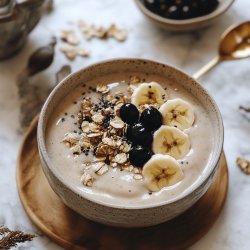
[(133, 92), (131, 102), (139, 107), (142, 104), (162, 105), (166, 101), (167, 93), (159, 83), (142, 83)]

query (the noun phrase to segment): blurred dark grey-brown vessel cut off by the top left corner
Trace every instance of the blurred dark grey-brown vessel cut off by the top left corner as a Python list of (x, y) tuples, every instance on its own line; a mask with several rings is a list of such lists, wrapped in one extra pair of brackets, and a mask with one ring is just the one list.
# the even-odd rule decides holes
[(0, 60), (15, 54), (41, 17), (44, 0), (0, 0)]

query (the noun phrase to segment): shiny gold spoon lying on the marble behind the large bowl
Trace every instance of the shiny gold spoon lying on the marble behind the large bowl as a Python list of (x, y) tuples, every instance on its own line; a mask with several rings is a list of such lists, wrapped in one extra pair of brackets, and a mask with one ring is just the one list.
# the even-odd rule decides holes
[(193, 75), (195, 79), (222, 61), (250, 57), (250, 21), (229, 27), (221, 36), (218, 52), (214, 59)]

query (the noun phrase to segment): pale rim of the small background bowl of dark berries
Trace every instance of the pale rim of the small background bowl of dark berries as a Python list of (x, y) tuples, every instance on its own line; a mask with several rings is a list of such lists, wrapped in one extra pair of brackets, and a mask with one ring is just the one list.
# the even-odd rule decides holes
[(184, 19), (184, 20), (175, 20), (175, 19), (162, 17), (162, 16), (150, 11), (148, 8), (146, 8), (145, 5), (142, 3), (142, 0), (135, 0), (138, 8), (147, 17), (149, 17), (157, 22), (168, 24), (168, 25), (173, 25), (176, 27), (182, 27), (182, 26), (192, 25), (192, 24), (201, 24), (201, 23), (204, 23), (206, 21), (210, 21), (212, 19), (215, 19), (216, 17), (218, 17), (221, 14), (223, 14), (224, 12), (226, 12), (231, 7), (231, 5), (234, 3), (235, 0), (224, 0), (224, 1), (226, 2), (224, 8), (222, 8), (223, 6), (221, 8), (218, 6), (217, 9), (215, 9), (214, 11), (212, 11), (211, 13), (209, 13), (207, 15), (200, 16), (200, 17), (194, 17), (194, 18), (188, 18), (188, 19)]

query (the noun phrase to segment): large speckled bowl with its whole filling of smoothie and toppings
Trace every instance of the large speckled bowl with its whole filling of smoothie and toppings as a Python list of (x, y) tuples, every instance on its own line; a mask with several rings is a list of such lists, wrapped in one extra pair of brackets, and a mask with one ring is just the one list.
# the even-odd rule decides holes
[(43, 171), (63, 202), (107, 225), (151, 226), (210, 187), (223, 146), (220, 112), (168, 65), (116, 59), (64, 79), (39, 118)]

